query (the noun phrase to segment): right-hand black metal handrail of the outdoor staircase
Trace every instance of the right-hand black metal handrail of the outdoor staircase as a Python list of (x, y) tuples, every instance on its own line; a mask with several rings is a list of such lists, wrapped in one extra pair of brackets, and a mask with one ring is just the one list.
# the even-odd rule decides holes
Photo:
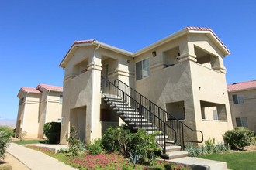
[[(137, 90), (134, 90), (132, 87), (128, 86), (126, 83), (123, 83), (123, 81), (117, 79), (114, 81), (114, 85), (116, 87), (119, 87), (119, 89), (122, 89), (125, 93), (129, 94), (131, 97), (133, 97), (134, 100), (137, 100), (137, 102), (139, 102), (141, 105), (144, 105), (144, 107), (147, 107), (150, 110), (150, 113), (154, 114), (157, 117), (160, 117), (162, 121), (166, 121), (167, 120), (166, 117), (171, 119), (171, 121), (169, 121), (169, 124), (171, 125), (172, 128), (174, 128), (178, 132), (178, 138), (176, 142), (182, 145), (182, 148), (185, 147), (185, 142), (202, 143), (203, 141), (202, 131), (194, 130), (190, 128), (188, 125), (178, 120), (178, 118), (169, 114), (167, 111), (157, 106), (157, 104), (154, 104), (151, 100), (147, 99), (147, 97), (144, 97), (141, 93), (137, 92)], [(195, 134), (200, 133), (201, 141), (193, 140), (192, 138), (195, 138), (195, 134), (191, 132), (194, 132)], [(184, 133), (186, 133), (186, 138), (189, 138), (189, 134), (191, 134), (190, 139), (185, 139)]]

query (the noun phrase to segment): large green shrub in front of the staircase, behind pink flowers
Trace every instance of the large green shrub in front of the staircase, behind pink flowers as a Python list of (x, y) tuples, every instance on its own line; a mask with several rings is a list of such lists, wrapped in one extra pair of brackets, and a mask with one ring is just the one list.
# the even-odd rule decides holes
[(119, 151), (124, 155), (130, 155), (133, 163), (140, 160), (152, 161), (155, 158), (155, 152), (160, 151), (157, 148), (156, 135), (146, 134), (144, 129), (139, 129), (137, 133), (132, 133), (126, 125), (119, 128), (109, 127), (102, 137), (102, 145), (106, 151)]

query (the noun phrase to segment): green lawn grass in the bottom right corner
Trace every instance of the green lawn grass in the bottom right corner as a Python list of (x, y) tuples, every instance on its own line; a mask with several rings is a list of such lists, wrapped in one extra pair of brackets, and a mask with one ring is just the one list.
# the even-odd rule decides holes
[(227, 168), (233, 170), (256, 169), (256, 151), (230, 153), (226, 152), (223, 154), (199, 156), (199, 158), (227, 162)]

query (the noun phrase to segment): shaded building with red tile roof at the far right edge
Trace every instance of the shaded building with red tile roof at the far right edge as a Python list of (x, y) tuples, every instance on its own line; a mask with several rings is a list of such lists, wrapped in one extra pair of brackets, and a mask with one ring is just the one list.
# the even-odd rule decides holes
[(256, 80), (227, 85), (234, 127), (256, 132)]

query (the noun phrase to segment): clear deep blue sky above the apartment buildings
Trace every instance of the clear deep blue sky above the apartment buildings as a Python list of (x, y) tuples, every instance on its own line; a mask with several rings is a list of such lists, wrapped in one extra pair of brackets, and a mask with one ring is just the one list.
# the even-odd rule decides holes
[(227, 83), (256, 79), (256, 1), (2, 0), (0, 118), (16, 119), (20, 87), (62, 86), (75, 40), (135, 52), (185, 26), (210, 27), (230, 49)]

